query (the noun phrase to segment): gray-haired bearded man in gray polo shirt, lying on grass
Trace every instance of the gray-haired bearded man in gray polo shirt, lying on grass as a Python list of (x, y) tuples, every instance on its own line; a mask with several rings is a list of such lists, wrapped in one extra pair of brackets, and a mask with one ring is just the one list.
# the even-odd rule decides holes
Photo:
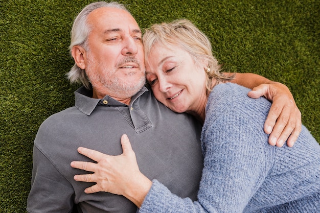
[[(158, 179), (180, 197), (196, 200), (203, 168), (201, 126), (193, 117), (174, 113), (158, 103), (144, 87), (141, 37), (135, 19), (118, 3), (90, 4), (75, 19), (70, 46), (75, 66), (69, 78), (84, 86), (75, 92), (74, 107), (50, 116), (39, 128), (34, 141), (29, 212), (135, 212), (135, 205), (122, 196), (84, 193), (92, 184), (75, 181), (79, 170), (70, 167), (71, 161), (87, 160), (77, 152), (80, 146), (121, 154), (124, 133), (148, 178)], [(270, 82), (256, 75), (253, 78), (255, 81), (245, 85)], [(276, 108), (283, 108), (283, 102), (277, 105), (275, 99), (292, 100), (288, 90), (280, 89), (283, 85), (266, 87), (277, 94), (271, 97)], [(297, 110), (292, 106), (290, 112)], [(269, 126), (273, 127), (272, 121), (279, 114), (273, 112)], [(276, 125), (279, 133), (275, 138), (284, 132), (281, 135), (286, 139), (295, 127), (290, 128), (287, 120)], [(298, 136), (299, 125), (298, 119), (291, 140)]]

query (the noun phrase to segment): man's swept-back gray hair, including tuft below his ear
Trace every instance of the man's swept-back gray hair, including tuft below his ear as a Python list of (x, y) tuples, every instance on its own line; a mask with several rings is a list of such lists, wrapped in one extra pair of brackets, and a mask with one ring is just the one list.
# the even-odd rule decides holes
[[(117, 8), (129, 12), (124, 5), (121, 5), (117, 2), (95, 2), (84, 7), (73, 22), (71, 30), (71, 43), (69, 46), (70, 54), (72, 54), (72, 48), (76, 45), (82, 46), (85, 51), (89, 50), (87, 46), (87, 38), (91, 28), (87, 23), (87, 16), (90, 12), (102, 7)], [(90, 88), (90, 82), (85, 74), (85, 70), (78, 67), (76, 63), (73, 65), (70, 72), (67, 73), (67, 78), (71, 83), (82, 83), (87, 89)]]

